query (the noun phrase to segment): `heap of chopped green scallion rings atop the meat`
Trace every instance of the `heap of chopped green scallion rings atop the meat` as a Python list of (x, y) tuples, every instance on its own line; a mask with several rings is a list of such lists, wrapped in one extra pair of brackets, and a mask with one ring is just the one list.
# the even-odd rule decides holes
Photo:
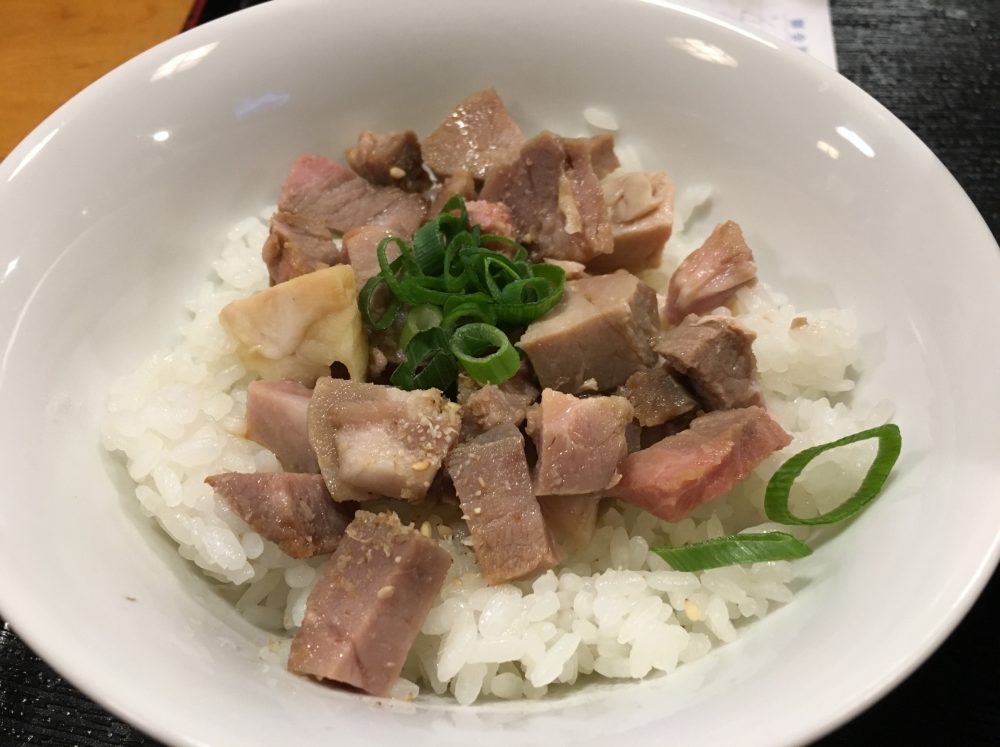
[[(391, 262), (390, 245), (400, 252)], [(412, 243), (390, 236), (377, 256), (379, 274), (365, 283), (358, 305), (373, 330), (388, 329), (406, 311), (399, 340), (406, 363), (390, 379), (402, 389), (447, 389), (459, 365), (480, 384), (506, 381), (520, 365), (508, 333), (550, 311), (566, 284), (562, 268), (531, 264), (516, 241), (469, 225), (458, 195)]]

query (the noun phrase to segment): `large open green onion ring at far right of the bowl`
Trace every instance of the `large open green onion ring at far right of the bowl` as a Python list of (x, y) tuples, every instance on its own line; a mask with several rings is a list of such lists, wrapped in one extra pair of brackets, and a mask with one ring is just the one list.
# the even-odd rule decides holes
[[(875, 459), (868, 468), (868, 472), (861, 481), (861, 486), (857, 492), (837, 506), (837, 508), (812, 519), (803, 519), (793, 515), (788, 506), (792, 484), (802, 474), (802, 470), (806, 468), (809, 462), (831, 449), (847, 446), (859, 441), (866, 441), (869, 438), (878, 439), (878, 452), (875, 454)], [(875, 499), (875, 496), (882, 490), (882, 486), (885, 485), (885, 481), (889, 477), (889, 472), (892, 471), (892, 467), (899, 457), (901, 448), (902, 437), (899, 433), (899, 427), (893, 423), (888, 423), (880, 425), (877, 428), (870, 428), (866, 431), (855, 433), (851, 436), (845, 436), (830, 443), (820, 444), (819, 446), (813, 446), (812, 448), (800, 451), (782, 464), (767, 483), (767, 491), (764, 494), (764, 511), (771, 521), (781, 524), (833, 524), (844, 519), (849, 519), (871, 503)]]

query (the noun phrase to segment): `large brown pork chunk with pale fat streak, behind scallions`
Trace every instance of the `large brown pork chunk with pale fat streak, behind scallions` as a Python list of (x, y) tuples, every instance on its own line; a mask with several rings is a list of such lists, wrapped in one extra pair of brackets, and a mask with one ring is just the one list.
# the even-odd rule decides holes
[(543, 132), (524, 144), (516, 161), (490, 171), (479, 199), (508, 205), (518, 238), (541, 257), (586, 263), (610, 254), (614, 237), (600, 179), (610, 159), (617, 165), (611, 142), (607, 135)]

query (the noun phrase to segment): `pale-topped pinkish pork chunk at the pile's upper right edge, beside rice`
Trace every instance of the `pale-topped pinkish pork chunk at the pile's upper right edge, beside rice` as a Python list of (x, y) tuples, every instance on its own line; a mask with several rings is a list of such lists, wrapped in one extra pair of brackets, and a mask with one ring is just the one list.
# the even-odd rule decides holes
[(674, 183), (664, 172), (619, 172), (601, 182), (614, 251), (595, 257), (592, 272), (633, 272), (660, 264), (674, 227)]

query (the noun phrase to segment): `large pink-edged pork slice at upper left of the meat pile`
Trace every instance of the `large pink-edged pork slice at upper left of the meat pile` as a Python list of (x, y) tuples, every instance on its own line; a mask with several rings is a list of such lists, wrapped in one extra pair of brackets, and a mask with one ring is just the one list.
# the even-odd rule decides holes
[(409, 238), (426, 212), (419, 195), (373, 186), (323, 156), (299, 156), (285, 178), (264, 243), (271, 284), (339, 263), (333, 239), (352, 228), (375, 223)]

